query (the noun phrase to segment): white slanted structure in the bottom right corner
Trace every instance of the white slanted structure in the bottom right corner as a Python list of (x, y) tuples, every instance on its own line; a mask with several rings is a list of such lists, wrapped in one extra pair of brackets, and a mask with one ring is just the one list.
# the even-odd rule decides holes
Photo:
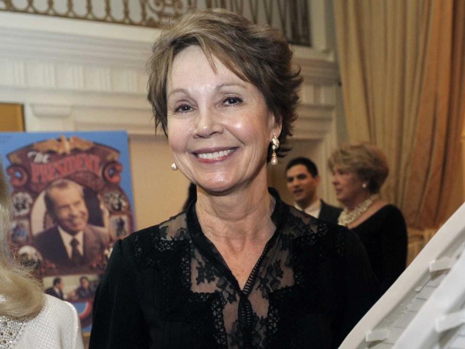
[(465, 349), (465, 204), (358, 322), (341, 349)]

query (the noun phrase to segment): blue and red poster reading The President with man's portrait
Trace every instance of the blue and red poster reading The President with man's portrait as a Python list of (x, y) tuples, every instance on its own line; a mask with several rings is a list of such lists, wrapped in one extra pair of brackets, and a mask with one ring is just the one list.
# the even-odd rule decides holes
[(112, 246), (134, 231), (127, 134), (0, 133), (13, 222), (8, 243), (48, 294), (71, 302), (83, 332)]

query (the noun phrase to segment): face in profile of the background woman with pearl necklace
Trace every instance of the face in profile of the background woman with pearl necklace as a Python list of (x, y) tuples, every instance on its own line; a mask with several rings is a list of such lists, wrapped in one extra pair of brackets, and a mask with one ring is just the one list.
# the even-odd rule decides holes
[(365, 197), (368, 191), (362, 187), (364, 182), (355, 171), (350, 171), (337, 165), (333, 168), (332, 183), (336, 190), (336, 198), (342, 204), (353, 202), (359, 197)]

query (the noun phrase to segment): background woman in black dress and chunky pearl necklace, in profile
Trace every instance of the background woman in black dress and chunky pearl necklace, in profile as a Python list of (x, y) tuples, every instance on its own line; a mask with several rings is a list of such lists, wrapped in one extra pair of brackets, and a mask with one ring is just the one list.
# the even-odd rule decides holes
[(378, 195), (389, 172), (386, 158), (370, 144), (346, 145), (331, 155), (328, 166), (336, 197), (345, 207), (338, 222), (365, 245), (381, 296), (403, 272), (407, 258), (402, 212)]

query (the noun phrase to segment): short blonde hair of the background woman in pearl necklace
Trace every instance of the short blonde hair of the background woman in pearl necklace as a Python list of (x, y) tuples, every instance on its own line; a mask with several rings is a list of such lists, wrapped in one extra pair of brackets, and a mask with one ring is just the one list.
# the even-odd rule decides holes
[(381, 190), (389, 173), (383, 152), (371, 144), (342, 146), (328, 159), (328, 167), (332, 172), (335, 167), (355, 172), (361, 180), (368, 182), (372, 194)]

